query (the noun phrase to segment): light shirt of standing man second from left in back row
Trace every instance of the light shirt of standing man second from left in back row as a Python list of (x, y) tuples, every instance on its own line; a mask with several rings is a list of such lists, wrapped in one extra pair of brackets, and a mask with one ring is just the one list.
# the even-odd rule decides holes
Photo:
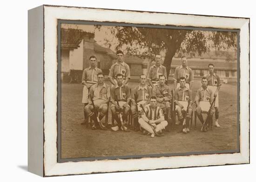
[(123, 78), (131, 78), (130, 68), (127, 63), (122, 62), (121, 64), (115, 63), (111, 66), (108, 78), (114, 78), (117, 74), (122, 74)]

